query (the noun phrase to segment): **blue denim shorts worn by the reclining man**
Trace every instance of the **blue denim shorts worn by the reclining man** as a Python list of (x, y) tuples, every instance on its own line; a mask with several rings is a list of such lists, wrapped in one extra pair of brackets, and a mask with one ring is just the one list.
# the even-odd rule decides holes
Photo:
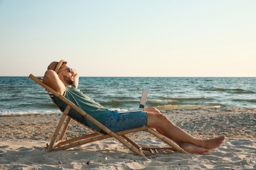
[(147, 112), (138, 111), (121, 114), (114, 110), (106, 117), (103, 125), (114, 132), (146, 126)]

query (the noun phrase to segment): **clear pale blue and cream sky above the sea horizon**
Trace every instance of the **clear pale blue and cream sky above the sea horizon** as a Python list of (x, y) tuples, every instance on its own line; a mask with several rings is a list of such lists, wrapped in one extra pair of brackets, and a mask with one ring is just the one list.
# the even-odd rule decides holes
[(256, 76), (254, 0), (0, 0), (0, 76)]

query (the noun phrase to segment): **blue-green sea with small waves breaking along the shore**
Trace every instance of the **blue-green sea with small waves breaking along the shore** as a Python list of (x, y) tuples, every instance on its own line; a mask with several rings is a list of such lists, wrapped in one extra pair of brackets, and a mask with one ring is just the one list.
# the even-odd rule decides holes
[[(209, 109), (256, 107), (256, 77), (80, 77), (85, 95), (112, 110), (136, 110), (142, 90), (146, 107)], [(0, 76), (0, 116), (60, 112), (28, 76)]]

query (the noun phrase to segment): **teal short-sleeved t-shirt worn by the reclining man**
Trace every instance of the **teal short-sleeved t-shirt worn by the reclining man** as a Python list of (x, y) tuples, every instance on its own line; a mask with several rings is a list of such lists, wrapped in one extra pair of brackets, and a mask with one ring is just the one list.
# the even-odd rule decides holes
[[(77, 105), (80, 109), (85, 111), (87, 114), (98, 120), (98, 122), (102, 123), (106, 119), (106, 117), (110, 114), (110, 110), (106, 109), (100, 103), (96, 103), (93, 99), (88, 97), (87, 95), (84, 95), (79, 89), (75, 88), (75, 86), (72, 86), (71, 88), (66, 87), (66, 92), (64, 92), (64, 97), (69, 99), (72, 103)], [(54, 100), (56, 102), (56, 105), (60, 107), (62, 111), (66, 109), (67, 104), (64, 103), (62, 100), (58, 99), (58, 97), (54, 96)], [(68, 116), (74, 118), (75, 120), (89, 126), (93, 127), (93, 129), (96, 129), (97, 131), (100, 131), (101, 129), (95, 124), (93, 124), (91, 121), (84, 118), (79, 112), (77, 112), (74, 109), (71, 109), (68, 113)]]

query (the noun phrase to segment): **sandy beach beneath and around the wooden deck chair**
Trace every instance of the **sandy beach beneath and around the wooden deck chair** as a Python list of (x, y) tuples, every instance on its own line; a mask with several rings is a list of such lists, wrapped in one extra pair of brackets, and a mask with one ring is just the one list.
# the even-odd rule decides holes
[[(162, 110), (192, 135), (208, 139), (225, 135), (226, 141), (209, 154), (178, 152), (142, 158), (114, 139), (70, 150), (44, 151), (60, 114), (0, 116), (0, 169), (256, 169), (256, 109)], [(68, 137), (87, 133), (73, 122)], [(147, 133), (131, 137), (139, 143), (163, 143)]]

